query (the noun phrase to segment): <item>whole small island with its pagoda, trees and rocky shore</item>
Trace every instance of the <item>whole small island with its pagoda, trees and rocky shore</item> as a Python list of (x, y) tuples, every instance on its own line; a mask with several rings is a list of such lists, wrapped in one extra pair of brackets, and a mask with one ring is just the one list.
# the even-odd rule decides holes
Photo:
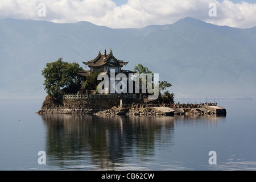
[[(84, 70), (77, 63), (63, 62), (62, 58), (46, 64), (42, 75), (46, 78), (44, 85), (48, 96), (44, 100), (42, 108), (36, 113), (97, 115), (202, 115), (226, 113), (224, 108), (217, 106), (215, 103), (174, 104), (174, 93), (164, 92), (172, 85), (167, 81), (158, 80), (156, 84), (156, 78), (153, 78), (153, 80), (155, 79), (155, 85), (158, 86), (153, 86), (154, 92), (148, 93), (153, 89), (148, 90), (151, 88), (148, 85), (152, 85), (153, 82), (152, 72), (147, 67), (143, 67), (142, 64), (138, 64), (134, 71), (123, 70), (122, 67), (128, 62), (116, 59), (113, 56), (112, 49), (110, 49), (109, 54), (106, 53), (106, 50), (103, 55), (98, 52), (93, 60), (82, 63), (90, 69)], [(105, 78), (108, 80), (104, 82), (104, 86), (101, 85), (103, 81), (98, 80), (100, 74), (105, 76), (104, 80)], [(130, 79), (134, 74), (138, 77), (137, 80)], [(141, 75), (146, 76), (147, 81), (144, 77), (141, 78)], [(122, 80), (120, 77), (122, 77)], [(148, 83), (148, 80), (151, 84)], [(119, 85), (119, 88), (117, 88), (117, 85)], [(114, 92), (112, 92), (113, 87)], [(102, 88), (104, 88), (104, 92), (98, 92)], [(155, 90), (155, 88), (158, 89)], [(122, 92), (120, 93), (118, 90), (122, 90)], [(158, 97), (152, 100), (150, 99), (152, 94), (156, 94)]]

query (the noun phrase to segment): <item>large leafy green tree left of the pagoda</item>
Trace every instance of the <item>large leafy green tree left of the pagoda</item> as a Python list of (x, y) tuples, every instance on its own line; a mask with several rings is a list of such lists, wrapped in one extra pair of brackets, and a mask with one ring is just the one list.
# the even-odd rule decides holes
[(45, 78), (44, 90), (51, 97), (57, 97), (63, 88), (68, 92), (76, 92), (80, 87), (81, 80), (76, 72), (82, 71), (82, 67), (78, 63), (68, 63), (62, 59), (47, 63), (42, 71)]

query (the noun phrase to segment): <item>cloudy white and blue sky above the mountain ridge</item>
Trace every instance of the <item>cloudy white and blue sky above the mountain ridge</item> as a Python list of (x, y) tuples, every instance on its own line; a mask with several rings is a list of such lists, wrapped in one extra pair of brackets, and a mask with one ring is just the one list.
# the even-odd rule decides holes
[(0, 19), (88, 21), (110, 28), (172, 24), (192, 17), (220, 26), (256, 26), (256, 0), (7, 0)]

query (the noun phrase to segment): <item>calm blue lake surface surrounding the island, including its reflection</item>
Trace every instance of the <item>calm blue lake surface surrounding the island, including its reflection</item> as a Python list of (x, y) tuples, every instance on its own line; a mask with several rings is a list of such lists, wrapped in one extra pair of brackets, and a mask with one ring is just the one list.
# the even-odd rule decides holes
[(0, 170), (256, 170), (256, 101), (201, 117), (35, 114), (41, 105), (0, 101)]

